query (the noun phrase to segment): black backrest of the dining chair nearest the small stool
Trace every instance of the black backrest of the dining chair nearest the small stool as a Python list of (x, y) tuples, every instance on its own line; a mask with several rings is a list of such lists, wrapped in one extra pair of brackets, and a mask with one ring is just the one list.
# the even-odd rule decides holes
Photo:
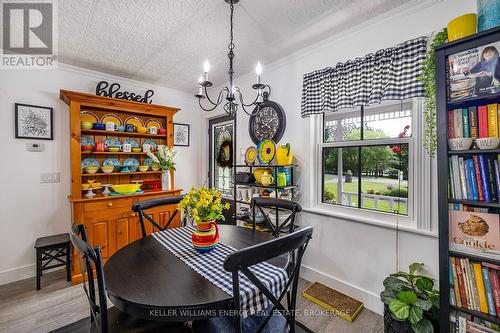
[(87, 231), (83, 224), (73, 224), (70, 238), (81, 258), (80, 271), (82, 274), (82, 285), (90, 305), (90, 320), (100, 332), (107, 333), (108, 307), (102, 269), (101, 248), (92, 248), (89, 245), (87, 242)]

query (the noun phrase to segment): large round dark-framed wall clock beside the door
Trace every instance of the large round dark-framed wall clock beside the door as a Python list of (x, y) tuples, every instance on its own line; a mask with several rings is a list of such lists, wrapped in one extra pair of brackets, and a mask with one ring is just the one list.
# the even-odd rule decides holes
[(264, 139), (271, 139), (278, 142), (286, 128), (285, 111), (281, 105), (268, 100), (269, 94), (263, 94), (264, 101), (256, 106), (250, 116), (248, 132), (255, 144)]

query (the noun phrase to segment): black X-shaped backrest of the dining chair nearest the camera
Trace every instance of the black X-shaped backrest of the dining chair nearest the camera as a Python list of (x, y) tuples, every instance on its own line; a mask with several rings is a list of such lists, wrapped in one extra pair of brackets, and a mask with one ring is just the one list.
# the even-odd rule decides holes
[[(239, 275), (242, 272), (267, 299), (272, 303), (272, 310), (267, 314), (266, 319), (260, 325), (260, 330), (267, 324), (275, 309), (279, 310), (286, 318), (290, 329), (293, 332), (295, 328), (295, 307), (297, 301), (297, 285), (299, 281), (300, 265), (302, 256), (307, 248), (309, 240), (312, 238), (313, 228), (307, 227), (297, 230), (286, 236), (276, 238), (258, 245), (254, 245), (242, 250), (231, 253), (224, 261), (224, 269), (231, 272), (233, 275), (233, 303), (236, 311), (236, 329), (241, 332), (241, 317), (240, 313), (240, 293), (239, 293)], [(294, 253), (295, 259), (288, 266), (288, 280), (284, 290), (279, 296), (275, 296), (249, 267), (255, 264), (268, 261), (287, 253)], [(291, 286), (291, 290), (290, 289)], [(288, 309), (285, 309), (281, 304), (284, 295), (287, 295)]]

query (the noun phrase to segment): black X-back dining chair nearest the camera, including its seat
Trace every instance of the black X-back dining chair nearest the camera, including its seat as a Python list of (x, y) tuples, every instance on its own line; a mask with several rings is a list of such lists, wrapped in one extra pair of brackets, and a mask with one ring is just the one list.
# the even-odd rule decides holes
[[(193, 323), (193, 332), (305, 332), (308, 331), (295, 321), (297, 301), (297, 285), (299, 281), (302, 256), (312, 238), (313, 228), (307, 227), (286, 236), (276, 238), (258, 245), (254, 245), (231, 253), (224, 261), (224, 269), (233, 276), (233, 317), (215, 317)], [(251, 266), (278, 258), (284, 254), (294, 252), (295, 260), (290, 267), (288, 280), (284, 290), (276, 297), (249, 269)], [(272, 305), (265, 311), (265, 316), (252, 315), (244, 319), (240, 316), (240, 276), (245, 275)], [(281, 301), (287, 297), (287, 308)], [(275, 310), (277, 310), (275, 312)], [(279, 312), (278, 312), (279, 311)], [(297, 327), (298, 326), (298, 327)]]

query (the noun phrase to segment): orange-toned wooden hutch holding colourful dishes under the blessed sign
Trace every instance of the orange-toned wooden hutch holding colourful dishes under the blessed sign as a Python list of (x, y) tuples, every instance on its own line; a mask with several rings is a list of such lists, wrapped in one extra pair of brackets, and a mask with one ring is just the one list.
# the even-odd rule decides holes
[[(70, 112), (70, 153), (71, 153), (71, 195), (69, 200), (72, 205), (72, 223), (85, 224), (89, 242), (93, 246), (99, 245), (102, 250), (104, 262), (121, 247), (139, 239), (141, 228), (137, 214), (132, 212), (132, 204), (141, 200), (148, 200), (168, 195), (179, 195), (182, 189), (175, 188), (174, 175), (172, 173), (172, 190), (144, 190), (141, 194), (105, 196), (97, 193), (92, 198), (83, 195), (82, 183), (89, 179), (95, 179), (102, 184), (128, 184), (137, 180), (160, 180), (161, 171), (145, 172), (112, 172), (86, 174), (82, 170), (82, 159), (93, 157), (102, 165), (106, 158), (116, 157), (121, 162), (129, 157), (134, 157), (142, 165), (147, 155), (143, 152), (82, 152), (80, 139), (82, 136), (91, 137), (95, 142), (104, 141), (106, 138), (116, 137), (123, 142), (125, 139), (134, 139), (139, 146), (145, 140), (153, 140), (156, 144), (173, 146), (173, 115), (179, 111), (178, 108), (145, 104), (110, 97), (96, 96), (67, 90), (60, 91), (60, 98), (69, 105)], [(129, 133), (119, 131), (106, 131), (94, 129), (82, 129), (82, 115), (91, 112), (98, 119), (106, 114), (118, 116), (122, 122), (128, 117), (136, 117), (144, 123), (152, 119), (166, 128), (166, 134)], [(163, 206), (148, 211), (155, 221), (160, 225), (166, 223), (170, 214), (176, 209), (175, 205)], [(180, 218), (177, 215), (171, 226), (179, 226)], [(148, 233), (153, 230), (151, 224), (146, 224)], [(72, 258), (72, 282), (81, 282), (79, 271), (79, 260), (73, 255)]]

